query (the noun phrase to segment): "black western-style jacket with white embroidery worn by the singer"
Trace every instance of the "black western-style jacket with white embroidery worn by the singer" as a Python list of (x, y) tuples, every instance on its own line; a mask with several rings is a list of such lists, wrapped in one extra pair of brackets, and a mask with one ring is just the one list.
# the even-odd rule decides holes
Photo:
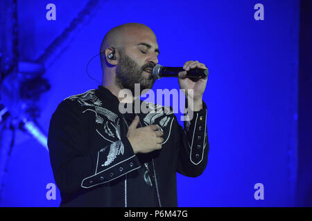
[[(140, 104), (149, 113), (121, 114), (118, 98), (98, 86), (58, 105), (48, 146), (60, 206), (177, 206), (176, 172), (197, 177), (207, 165), (207, 106), (183, 129), (171, 107)], [(164, 132), (161, 150), (135, 155), (126, 137), (135, 115), (138, 128)]]

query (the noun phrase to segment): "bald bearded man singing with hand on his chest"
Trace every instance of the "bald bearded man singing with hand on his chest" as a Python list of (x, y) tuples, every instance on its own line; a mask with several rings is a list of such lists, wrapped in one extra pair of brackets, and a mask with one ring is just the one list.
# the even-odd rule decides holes
[[(187, 61), (179, 73), (193, 117), (177, 122), (172, 108), (135, 97), (155, 82), (155, 34), (141, 23), (112, 28), (101, 44), (103, 82), (64, 99), (51, 118), (48, 146), (60, 206), (177, 206), (176, 172), (197, 177), (207, 165), (207, 77), (192, 81)], [(126, 97), (119, 97), (121, 90)], [(148, 113), (134, 110), (135, 101)], [(132, 106), (121, 113), (120, 106)]]

